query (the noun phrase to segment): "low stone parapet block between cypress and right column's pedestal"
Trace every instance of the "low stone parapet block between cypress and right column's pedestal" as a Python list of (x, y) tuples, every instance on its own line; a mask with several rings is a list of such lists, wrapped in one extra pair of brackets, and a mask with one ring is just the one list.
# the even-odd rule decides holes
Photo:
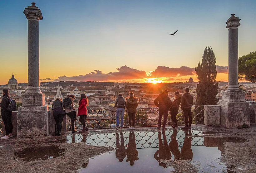
[(219, 105), (204, 106), (204, 124), (206, 126), (220, 125), (220, 108)]

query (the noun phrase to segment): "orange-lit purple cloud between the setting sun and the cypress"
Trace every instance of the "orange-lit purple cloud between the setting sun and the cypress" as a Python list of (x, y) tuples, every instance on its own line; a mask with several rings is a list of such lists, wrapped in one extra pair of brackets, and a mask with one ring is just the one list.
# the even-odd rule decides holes
[(176, 76), (188, 76), (195, 75), (194, 68), (181, 66), (180, 68), (170, 68), (165, 66), (158, 66), (157, 69), (151, 72), (151, 77), (176, 77)]

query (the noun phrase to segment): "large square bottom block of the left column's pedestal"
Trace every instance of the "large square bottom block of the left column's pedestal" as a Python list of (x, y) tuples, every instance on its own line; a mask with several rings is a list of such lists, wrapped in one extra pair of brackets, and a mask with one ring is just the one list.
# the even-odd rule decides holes
[(48, 134), (48, 105), (18, 108), (18, 138), (47, 137)]

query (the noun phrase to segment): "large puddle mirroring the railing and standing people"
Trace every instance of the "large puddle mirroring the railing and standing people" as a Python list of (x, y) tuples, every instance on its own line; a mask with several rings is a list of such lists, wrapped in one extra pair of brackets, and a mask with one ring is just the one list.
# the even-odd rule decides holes
[[(220, 162), (224, 142), (244, 142), (242, 138), (201, 136), (201, 131), (141, 132), (123, 131), (106, 134), (76, 134), (67, 142), (116, 147), (116, 151), (97, 156), (82, 165), (81, 173), (172, 172), (168, 161), (189, 161), (199, 172), (229, 172)], [(199, 136), (196, 136), (199, 135)], [(100, 164), (99, 164), (100, 163)], [(178, 165), (179, 166), (179, 165)], [(182, 165), (180, 165), (182, 167)], [(102, 169), (99, 169), (102, 168)], [(176, 165), (177, 168), (177, 165)]]

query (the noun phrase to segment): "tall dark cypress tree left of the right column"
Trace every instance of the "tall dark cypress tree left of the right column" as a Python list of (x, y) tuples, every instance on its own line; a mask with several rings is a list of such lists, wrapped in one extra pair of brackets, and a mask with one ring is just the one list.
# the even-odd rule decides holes
[(216, 98), (218, 94), (218, 82), (216, 81), (216, 58), (214, 52), (210, 47), (205, 47), (202, 63), (198, 63), (195, 67), (198, 75), (199, 84), (196, 87), (196, 105), (216, 105), (219, 99)]

